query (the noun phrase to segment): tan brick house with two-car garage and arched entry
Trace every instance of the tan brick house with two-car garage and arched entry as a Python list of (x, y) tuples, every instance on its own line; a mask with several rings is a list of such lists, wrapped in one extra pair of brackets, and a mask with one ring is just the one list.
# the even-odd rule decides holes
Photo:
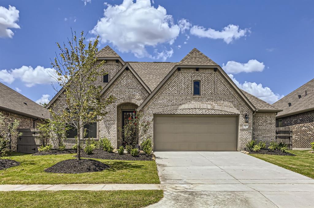
[[(109, 74), (94, 84), (104, 86), (102, 99), (113, 95), (116, 101), (104, 109), (108, 114), (101, 122), (86, 126), (86, 138), (107, 137), (117, 148), (123, 137), (118, 127), (142, 110), (143, 121), (153, 119), (147, 136), (154, 151), (237, 151), (251, 139), (275, 139), (280, 110), (241, 91), (198, 49), (174, 63), (124, 62), (109, 46), (96, 56), (106, 60)], [(64, 103), (57, 95), (47, 106), (55, 111)], [(69, 131), (68, 148), (76, 134)]]

